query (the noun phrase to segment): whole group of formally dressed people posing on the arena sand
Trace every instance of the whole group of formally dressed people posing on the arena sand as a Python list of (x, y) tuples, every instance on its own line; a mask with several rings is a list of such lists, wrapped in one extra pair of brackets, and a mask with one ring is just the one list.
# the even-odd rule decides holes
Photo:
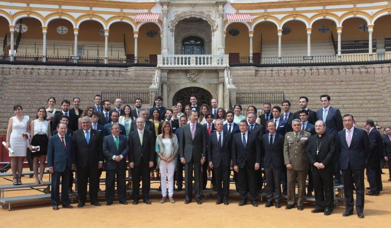
[[(85, 110), (80, 109), (78, 97), (73, 99), (72, 109), (71, 102), (64, 99), (57, 110), (55, 98), (50, 97), (48, 107), (40, 107), (33, 121), (23, 116), (21, 105), (15, 105), (6, 141), (6, 147), (13, 150), (10, 152), (13, 183), (22, 184), (23, 161), (26, 151), (30, 151), (36, 184), (44, 183), (47, 159), (52, 173), (53, 210), (58, 210), (60, 204), (60, 179), (62, 207), (72, 208), (69, 191), (74, 183), (74, 170), (77, 170), (78, 207), (86, 203), (87, 185), (90, 204), (101, 205), (97, 195), (103, 168), (106, 204), (114, 202), (115, 185), (119, 203), (127, 204), (127, 166), (132, 177), (134, 205), (140, 201), (140, 182), (142, 200), (151, 204), (149, 192), (154, 168), (158, 170), (156, 176), (160, 176), (160, 203), (167, 200), (175, 203), (174, 183), (177, 191), (182, 191), (184, 179), (185, 204), (192, 202), (192, 189), (196, 202), (202, 204), (208, 170), (217, 191), (216, 204), (224, 205), (229, 204), (231, 169), (241, 199), (239, 206), (248, 203), (249, 195), (251, 205), (257, 207), (259, 190), (266, 182), (265, 207), (280, 208), (282, 195), (286, 194), (285, 209), (295, 208), (297, 183), (298, 210), (304, 209), (305, 196), (312, 196), (314, 191), (315, 209), (311, 212), (330, 215), (334, 209), (334, 189), (343, 185), (346, 197), (343, 216), (353, 213), (355, 190), (357, 216), (363, 218), (364, 196), (379, 196), (382, 191), (380, 163), (384, 160), (390, 167), (390, 128), (385, 128), (382, 136), (372, 120), (366, 121), (365, 130), (355, 127), (354, 117), (342, 116), (338, 108), (331, 106), (329, 95), (320, 96), (322, 108), (317, 111), (310, 110), (308, 98), (302, 96), (300, 110), (295, 113), (290, 111), (290, 101), (284, 100), (282, 108), (265, 102), (259, 116), (252, 105), (247, 108), (247, 116), (242, 115), (240, 104), (234, 105), (233, 111), (226, 111), (218, 107), (215, 98), (210, 101), (211, 106), (200, 106), (196, 95), (190, 96), (190, 104), (179, 101), (171, 108), (162, 106), (162, 101), (157, 96), (148, 111), (142, 108), (140, 98), (135, 100), (134, 109), (122, 106), (122, 100), (117, 98), (111, 108), (109, 100), (102, 101), (96, 95), (94, 104)], [(368, 193), (365, 193), (365, 169)]]

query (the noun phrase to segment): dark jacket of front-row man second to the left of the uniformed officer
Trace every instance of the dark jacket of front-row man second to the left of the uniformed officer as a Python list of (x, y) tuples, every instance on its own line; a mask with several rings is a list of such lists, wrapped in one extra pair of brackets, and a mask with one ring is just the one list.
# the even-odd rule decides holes
[(237, 133), (232, 137), (231, 157), (234, 165), (243, 169), (246, 162), (250, 167), (255, 163), (262, 164), (262, 149), (260, 140), (256, 134), (247, 134), (246, 147), (243, 146), (242, 133)]

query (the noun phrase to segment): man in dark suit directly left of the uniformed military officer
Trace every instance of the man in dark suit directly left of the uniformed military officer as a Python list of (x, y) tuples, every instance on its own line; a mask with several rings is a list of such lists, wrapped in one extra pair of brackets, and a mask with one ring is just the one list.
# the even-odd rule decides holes
[(266, 176), (266, 194), (268, 203), (265, 207), (273, 206), (273, 193), (276, 208), (280, 208), (281, 175), (284, 169), (284, 137), (276, 132), (276, 123), (267, 123), (269, 133), (262, 136), (263, 162)]

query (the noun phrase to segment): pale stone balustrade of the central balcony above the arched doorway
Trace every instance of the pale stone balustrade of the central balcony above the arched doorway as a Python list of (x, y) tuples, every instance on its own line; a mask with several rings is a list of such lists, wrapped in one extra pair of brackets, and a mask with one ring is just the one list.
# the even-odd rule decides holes
[(158, 55), (159, 67), (225, 67), (228, 55)]

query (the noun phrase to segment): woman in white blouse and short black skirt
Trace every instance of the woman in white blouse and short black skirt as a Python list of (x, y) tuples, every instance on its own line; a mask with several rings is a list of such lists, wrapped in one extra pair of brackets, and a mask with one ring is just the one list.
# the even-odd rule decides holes
[[(50, 124), (45, 120), (46, 118), (46, 109), (45, 107), (40, 107), (37, 110), (37, 119), (31, 121), (30, 123), (30, 134), (32, 135), (31, 142), (27, 146), (31, 150), (31, 157), (33, 159), (32, 169), (36, 176), (36, 184), (43, 184), (44, 181), (42, 177), (45, 171), (45, 160), (47, 154), (47, 147), (50, 137)], [(37, 151), (31, 146), (39, 146), (40, 149)], [(39, 168), (39, 176), (38, 176)]]

